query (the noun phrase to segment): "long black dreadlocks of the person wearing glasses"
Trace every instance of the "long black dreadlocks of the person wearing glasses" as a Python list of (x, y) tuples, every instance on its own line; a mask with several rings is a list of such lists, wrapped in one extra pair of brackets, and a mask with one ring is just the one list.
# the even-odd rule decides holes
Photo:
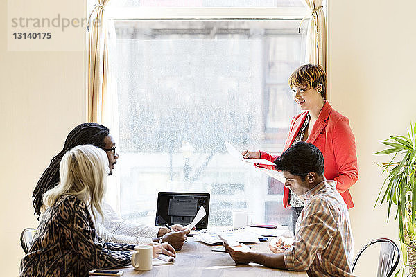
[(43, 205), (42, 196), (44, 193), (58, 185), (60, 181), (59, 165), (64, 154), (77, 145), (92, 144), (98, 148), (105, 148), (104, 139), (108, 134), (108, 128), (97, 123), (83, 123), (69, 132), (64, 143), (64, 148), (53, 157), (48, 168), (46, 168), (39, 181), (37, 181), (35, 190), (33, 190), (32, 197), (35, 215), (40, 215), (40, 208)]

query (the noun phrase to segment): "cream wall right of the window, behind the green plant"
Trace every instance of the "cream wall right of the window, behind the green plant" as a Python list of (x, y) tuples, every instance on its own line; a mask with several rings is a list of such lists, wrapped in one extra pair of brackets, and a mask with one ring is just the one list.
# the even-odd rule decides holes
[(381, 139), (406, 134), (416, 122), (415, 8), (411, 0), (329, 1), (329, 100), (349, 118), (358, 154), (350, 211), (356, 252), (373, 238), (398, 242), (396, 222), (385, 223), (386, 206), (373, 208), (383, 183), (374, 161), (387, 157), (372, 153), (383, 149)]

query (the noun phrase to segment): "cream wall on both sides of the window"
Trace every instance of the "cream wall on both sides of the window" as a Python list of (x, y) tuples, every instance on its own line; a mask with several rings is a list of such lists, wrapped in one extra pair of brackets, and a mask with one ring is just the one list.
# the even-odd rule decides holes
[[(85, 0), (62, 1), (62, 9), (66, 5), (85, 16)], [(87, 118), (85, 53), (7, 51), (5, 1), (0, 7), (0, 265), (2, 276), (17, 276), (19, 234), (36, 224), (36, 181), (69, 130)], [(385, 207), (373, 209), (383, 179), (372, 153), (381, 150), (380, 139), (404, 134), (416, 122), (415, 9), (410, 0), (329, 1), (329, 100), (351, 120), (358, 151), (360, 179), (350, 211), (356, 251), (372, 238), (397, 239), (395, 223), (385, 224)], [(84, 39), (83, 31), (71, 39)]]

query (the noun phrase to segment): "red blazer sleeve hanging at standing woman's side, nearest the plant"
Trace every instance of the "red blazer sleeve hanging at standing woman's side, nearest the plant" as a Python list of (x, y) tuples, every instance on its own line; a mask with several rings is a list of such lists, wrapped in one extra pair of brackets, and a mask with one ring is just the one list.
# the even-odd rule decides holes
[(333, 152), (339, 175), (334, 178), (339, 193), (345, 192), (358, 179), (358, 166), (354, 134), (348, 118), (340, 118), (333, 131)]

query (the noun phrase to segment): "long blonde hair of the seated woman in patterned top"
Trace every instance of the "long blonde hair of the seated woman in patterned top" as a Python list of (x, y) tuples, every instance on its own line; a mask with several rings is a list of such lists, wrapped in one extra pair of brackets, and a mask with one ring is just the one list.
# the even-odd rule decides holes
[(78, 145), (60, 161), (60, 183), (44, 193), (45, 206), (53, 206), (62, 195), (74, 195), (83, 201), (97, 220), (103, 217), (102, 202), (107, 186), (107, 154), (93, 145)]

